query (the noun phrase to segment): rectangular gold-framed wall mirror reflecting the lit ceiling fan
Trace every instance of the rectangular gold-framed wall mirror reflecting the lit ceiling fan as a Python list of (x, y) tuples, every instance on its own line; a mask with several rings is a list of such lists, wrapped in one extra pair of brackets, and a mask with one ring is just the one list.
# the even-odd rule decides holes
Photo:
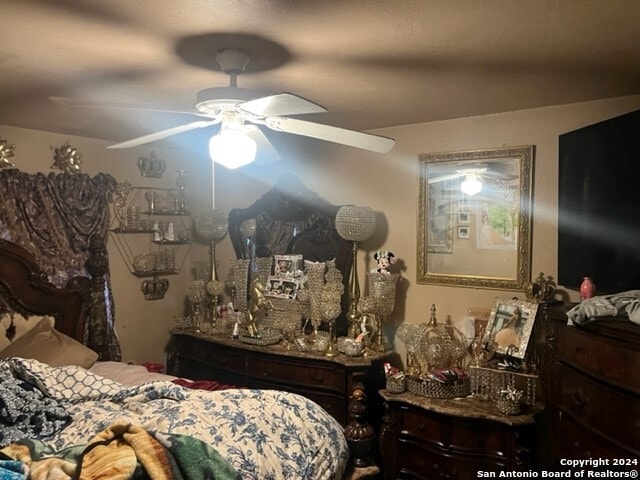
[(419, 156), (418, 283), (524, 289), (533, 151), (525, 145)]

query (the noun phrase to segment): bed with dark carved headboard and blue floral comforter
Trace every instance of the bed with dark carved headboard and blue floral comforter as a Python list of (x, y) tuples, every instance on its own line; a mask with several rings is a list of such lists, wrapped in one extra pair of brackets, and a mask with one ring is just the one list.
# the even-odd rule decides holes
[(189, 388), (97, 362), (78, 284), (52, 287), (0, 241), (0, 478), (343, 478), (343, 428), (305, 397)]

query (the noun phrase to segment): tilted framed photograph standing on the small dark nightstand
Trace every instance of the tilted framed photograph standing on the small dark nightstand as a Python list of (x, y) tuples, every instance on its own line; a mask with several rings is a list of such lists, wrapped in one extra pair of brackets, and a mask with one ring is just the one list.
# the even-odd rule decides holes
[(537, 313), (537, 303), (497, 300), (489, 315), (482, 344), (493, 343), (496, 353), (524, 360)]

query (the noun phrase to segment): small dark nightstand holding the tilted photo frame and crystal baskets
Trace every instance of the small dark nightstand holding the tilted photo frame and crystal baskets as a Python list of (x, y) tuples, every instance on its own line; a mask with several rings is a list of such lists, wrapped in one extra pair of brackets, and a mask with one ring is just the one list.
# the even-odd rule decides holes
[(479, 478), (479, 472), (528, 470), (535, 463), (535, 414), (542, 405), (503, 415), (477, 397), (450, 400), (386, 390), (380, 395), (386, 413), (379, 443), (387, 480), (466, 480)]

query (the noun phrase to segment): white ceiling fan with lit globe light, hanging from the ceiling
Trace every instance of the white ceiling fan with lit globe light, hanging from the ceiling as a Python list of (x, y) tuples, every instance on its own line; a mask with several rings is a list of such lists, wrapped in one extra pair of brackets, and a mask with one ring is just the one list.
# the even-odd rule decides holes
[[(195, 110), (173, 112), (196, 115), (202, 117), (201, 120), (116, 143), (107, 148), (137, 147), (172, 135), (218, 124), (219, 131), (209, 142), (209, 154), (214, 161), (228, 168), (238, 168), (253, 162), (258, 148), (261, 156), (268, 159), (267, 162), (280, 159), (260, 127), (378, 153), (389, 152), (395, 144), (392, 138), (291, 118), (295, 115), (322, 113), (327, 110), (292, 93), (254, 98), (253, 91), (237, 87), (237, 76), (244, 72), (249, 62), (249, 57), (238, 49), (222, 49), (217, 52), (216, 60), (222, 71), (229, 75), (229, 87), (201, 90), (197, 94)], [(74, 103), (73, 100), (58, 99), (58, 101), (66, 104)], [(109, 107), (109, 105), (103, 106)]]

